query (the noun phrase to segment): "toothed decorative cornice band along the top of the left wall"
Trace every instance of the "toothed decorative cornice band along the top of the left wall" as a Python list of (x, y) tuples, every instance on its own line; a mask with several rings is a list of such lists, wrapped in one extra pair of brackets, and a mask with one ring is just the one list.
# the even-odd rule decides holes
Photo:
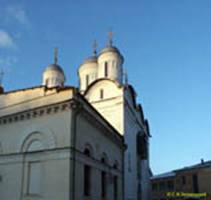
[(30, 120), (32, 118), (37, 118), (41, 116), (51, 115), (58, 112), (62, 112), (68, 109), (77, 109), (78, 102), (74, 99), (69, 99), (67, 101), (42, 106), (38, 108), (33, 108), (23, 112), (13, 113), (11, 115), (6, 115), (0, 117), (0, 125), (6, 125), (10, 123), (20, 122), (24, 120)]

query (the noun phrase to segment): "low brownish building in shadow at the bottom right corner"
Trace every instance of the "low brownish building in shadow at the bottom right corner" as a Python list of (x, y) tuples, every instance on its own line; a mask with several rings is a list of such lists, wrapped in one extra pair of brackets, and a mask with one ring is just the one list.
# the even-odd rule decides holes
[(211, 161), (151, 177), (151, 199), (211, 199)]

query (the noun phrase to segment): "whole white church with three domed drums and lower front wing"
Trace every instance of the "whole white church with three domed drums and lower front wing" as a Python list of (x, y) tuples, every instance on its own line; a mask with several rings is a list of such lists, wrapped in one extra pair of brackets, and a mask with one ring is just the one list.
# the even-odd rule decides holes
[(1, 200), (149, 200), (149, 125), (112, 38), (65, 84), (57, 63), (40, 86), (0, 88)]

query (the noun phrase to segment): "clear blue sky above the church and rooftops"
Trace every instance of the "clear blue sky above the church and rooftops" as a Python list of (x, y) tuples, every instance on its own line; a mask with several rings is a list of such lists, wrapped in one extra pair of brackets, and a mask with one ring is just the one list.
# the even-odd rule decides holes
[(211, 159), (209, 0), (0, 0), (0, 68), (6, 90), (41, 84), (59, 48), (67, 84), (105, 46), (125, 57), (151, 127), (151, 167), (161, 173)]

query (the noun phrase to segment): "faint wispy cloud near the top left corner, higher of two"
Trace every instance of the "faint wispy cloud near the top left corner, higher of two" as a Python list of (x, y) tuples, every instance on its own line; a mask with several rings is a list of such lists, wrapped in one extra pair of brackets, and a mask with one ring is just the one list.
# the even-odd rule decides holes
[(12, 18), (22, 25), (29, 25), (29, 19), (26, 11), (18, 5), (10, 5), (6, 8), (6, 14), (8, 18)]

